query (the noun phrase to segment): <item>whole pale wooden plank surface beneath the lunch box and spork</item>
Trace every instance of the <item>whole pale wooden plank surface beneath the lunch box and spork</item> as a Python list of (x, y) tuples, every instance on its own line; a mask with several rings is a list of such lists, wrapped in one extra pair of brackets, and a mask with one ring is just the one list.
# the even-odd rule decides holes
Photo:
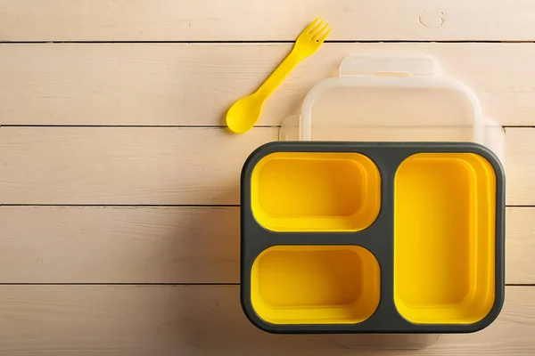
[[(222, 117), (317, 16), (330, 42)], [(0, 0), (0, 354), (535, 354), (531, 0)], [(349, 53), (429, 53), (506, 127), (506, 304), (419, 352), (253, 328), (238, 298), (238, 172)]]

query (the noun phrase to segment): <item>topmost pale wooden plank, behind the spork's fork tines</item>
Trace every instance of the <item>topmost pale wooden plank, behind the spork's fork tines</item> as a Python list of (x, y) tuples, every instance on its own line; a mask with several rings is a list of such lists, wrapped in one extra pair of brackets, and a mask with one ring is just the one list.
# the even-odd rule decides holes
[(529, 0), (0, 1), (3, 41), (292, 40), (322, 16), (333, 40), (533, 40)]

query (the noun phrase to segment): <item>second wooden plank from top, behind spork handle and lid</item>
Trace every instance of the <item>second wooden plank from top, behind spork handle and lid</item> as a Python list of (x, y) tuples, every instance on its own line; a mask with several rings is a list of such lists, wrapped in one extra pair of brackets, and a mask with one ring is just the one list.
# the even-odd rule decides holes
[[(3, 44), (0, 124), (222, 125), (230, 105), (256, 90), (291, 46)], [(281, 125), (350, 53), (407, 52), (435, 56), (446, 75), (473, 89), (485, 116), (535, 125), (532, 44), (325, 44), (276, 90), (258, 124)]]

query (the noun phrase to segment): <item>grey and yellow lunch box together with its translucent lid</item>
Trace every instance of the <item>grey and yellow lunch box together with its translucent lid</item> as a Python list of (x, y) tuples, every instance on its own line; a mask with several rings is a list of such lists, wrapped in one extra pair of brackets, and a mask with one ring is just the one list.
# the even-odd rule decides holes
[[(381, 70), (378, 70), (380, 68)], [(242, 173), (243, 311), (277, 333), (485, 328), (505, 290), (504, 135), (429, 57), (350, 56)]]

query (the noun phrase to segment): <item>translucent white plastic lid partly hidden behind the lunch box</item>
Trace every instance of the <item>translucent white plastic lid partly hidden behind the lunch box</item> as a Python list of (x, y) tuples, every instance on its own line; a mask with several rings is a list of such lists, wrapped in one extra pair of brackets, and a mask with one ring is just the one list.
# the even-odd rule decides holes
[(422, 55), (352, 54), (340, 76), (315, 85), (281, 140), (478, 142), (503, 159), (501, 126), (481, 117), (477, 97)]

